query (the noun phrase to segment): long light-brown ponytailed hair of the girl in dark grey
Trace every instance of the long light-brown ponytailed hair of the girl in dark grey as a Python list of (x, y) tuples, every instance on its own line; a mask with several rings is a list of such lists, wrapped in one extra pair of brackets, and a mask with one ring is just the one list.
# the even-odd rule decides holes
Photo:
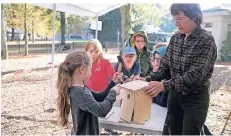
[(90, 57), (83, 51), (70, 52), (65, 61), (59, 65), (58, 79), (56, 87), (58, 90), (57, 108), (58, 122), (62, 126), (67, 126), (68, 115), (70, 113), (70, 102), (68, 97), (68, 89), (71, 87), (71, 80), (74, 71), (81, 66), (89, 66), (91, 63)]

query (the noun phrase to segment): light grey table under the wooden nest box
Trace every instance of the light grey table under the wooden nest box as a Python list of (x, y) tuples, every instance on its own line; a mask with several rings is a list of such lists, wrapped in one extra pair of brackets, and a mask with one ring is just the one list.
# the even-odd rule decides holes
[[(112, 113), (110, 115), (110, 113)], [(151, 118), (145, 124), (133, 124), (119, 122), (120, 107), (113, 106), (108, 118), (99, 118), (100, 128), (116, 129), (121, 131), (129, 131), (135, 133), (142, 133), (147, 135), (161, 135), (164, 127), (167, 108), (161, 107), (157, 104), (152, 104)]]

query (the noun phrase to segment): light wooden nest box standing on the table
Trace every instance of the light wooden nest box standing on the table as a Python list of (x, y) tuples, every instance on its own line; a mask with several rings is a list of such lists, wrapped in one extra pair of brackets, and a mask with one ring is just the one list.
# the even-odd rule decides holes
[(120, 118), (123, 121), (143, 124), (150, 118), (152, 98), (142, 90), (145, 86), (148, 86), (148, 82), (142, 80), (134, 80), (120, 86)]

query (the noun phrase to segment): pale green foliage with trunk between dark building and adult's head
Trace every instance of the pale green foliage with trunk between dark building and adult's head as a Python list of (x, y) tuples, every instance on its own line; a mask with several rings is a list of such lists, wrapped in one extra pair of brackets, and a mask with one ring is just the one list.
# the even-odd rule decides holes
[(161, 24), (159, 10), (155, 4), (127, 4), (120, 8), (122, 43), (133, 31), (142, 30), (145, 24)]

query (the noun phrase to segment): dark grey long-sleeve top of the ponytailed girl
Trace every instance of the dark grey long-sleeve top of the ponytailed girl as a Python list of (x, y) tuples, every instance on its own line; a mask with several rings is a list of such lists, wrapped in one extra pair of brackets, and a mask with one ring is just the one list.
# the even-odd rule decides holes
[(105, 117), (116, 100), (116, 92), (107, 88), (96, 93), (87, 86), (74, 86), (69, 89), (73, 128), (71, 135), (99, 135), (98, 117)]

